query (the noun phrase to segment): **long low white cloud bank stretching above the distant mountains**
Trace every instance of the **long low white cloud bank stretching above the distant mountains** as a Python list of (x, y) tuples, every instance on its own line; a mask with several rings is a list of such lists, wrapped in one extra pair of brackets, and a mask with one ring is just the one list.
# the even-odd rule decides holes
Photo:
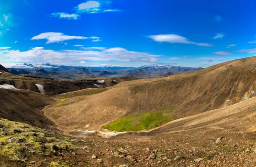
[(14, 62), (33, 63), (41, 60), (42, 63), (74, 64), (81, 61), (120, 61), (120, 62), (147, 62), (156, 63), (161, 55), (147, 52), (128, 51), (124, 48), (108, 48), (104, 50), (46, 50), (35, 47), (28, 51), (5, 50), (0, 52), (3, 58), (12, 59)]

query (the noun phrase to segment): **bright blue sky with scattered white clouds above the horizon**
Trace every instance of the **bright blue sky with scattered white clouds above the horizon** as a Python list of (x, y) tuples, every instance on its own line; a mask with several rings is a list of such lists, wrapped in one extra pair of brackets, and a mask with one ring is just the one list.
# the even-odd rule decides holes
[(255, 0), (0, 0), (6, 66), (207, 67), (255, 54)]

